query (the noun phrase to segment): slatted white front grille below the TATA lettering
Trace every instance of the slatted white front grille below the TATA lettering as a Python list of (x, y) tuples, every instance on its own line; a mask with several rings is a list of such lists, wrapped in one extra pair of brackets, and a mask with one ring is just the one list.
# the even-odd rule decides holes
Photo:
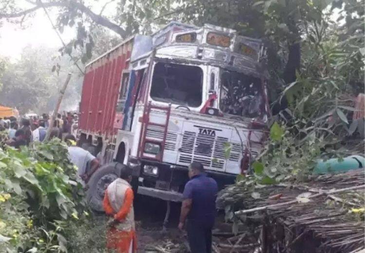
[[(197, 134), (185, 131), (180, 148), (179, 163), (200, 162), (204, 166), (222, 169), (226, 163), (224, 146), (228, 138)], [(229, 160), (238, 162), (241, 145), (230, 143)]]

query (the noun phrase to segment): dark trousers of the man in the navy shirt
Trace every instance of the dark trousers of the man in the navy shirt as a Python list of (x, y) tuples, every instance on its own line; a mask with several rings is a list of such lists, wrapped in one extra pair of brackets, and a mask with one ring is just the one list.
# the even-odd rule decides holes
[(212, 252), (212, 228), (211, 222), (199, 220), (187, 220), (186, 231), (191, 253)]

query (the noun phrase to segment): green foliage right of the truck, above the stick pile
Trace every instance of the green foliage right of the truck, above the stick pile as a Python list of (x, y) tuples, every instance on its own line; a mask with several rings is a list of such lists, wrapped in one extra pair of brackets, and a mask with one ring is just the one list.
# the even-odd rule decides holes
[[(240, 201), (242, 192), (256, 199), (265, 184), (307, 181), (317, 159), (364, 154), (364, 118), (352, 119), (355, 97), (364, 93), (364, 1), (340, 2), (339, 7), (343, 5), (344, 9), (340, 14), (346, 19), (343, 25), (335, 24), (331, 13), (301, 22), (301, 33), (306, 38), (302, 41), (301, 68), (296, 72), (296, 81), (282, 87), (279, 98), (287, 98), (288, 108), (274, 117), (270, 139), (252, 164), (253, 175), (240, 177), (219, 197), (224, 200), (226, 219), (233, 221), (233, 227), (238, 223), (233, 212), (245, 208)], [(260, 1), (255, 6), (265, 8), (269, 3), (274, 7), (277, 1)], [(318, 13), (307, 12), (313, 14)], [(282, 23), (272, 29), (281, 29), (281, 36), (289, 30), (289, 40), (291, 27), (287, 27), (288, 22)], [(279, 70), (272, 73), (280, 75)], [(298, 201), (306, 202), (308, 197), (301, 196)], [(363, 209), (355, 208), (348, 216), (362, 219), (363, 214)]]

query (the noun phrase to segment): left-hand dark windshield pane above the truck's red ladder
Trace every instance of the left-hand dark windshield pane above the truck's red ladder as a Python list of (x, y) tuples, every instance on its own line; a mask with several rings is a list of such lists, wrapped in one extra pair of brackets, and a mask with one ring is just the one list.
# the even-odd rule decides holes
[(151, 97), (155, 101), (199, 107), (202, 77), (198, 66), (158, 62), (153, 72)]

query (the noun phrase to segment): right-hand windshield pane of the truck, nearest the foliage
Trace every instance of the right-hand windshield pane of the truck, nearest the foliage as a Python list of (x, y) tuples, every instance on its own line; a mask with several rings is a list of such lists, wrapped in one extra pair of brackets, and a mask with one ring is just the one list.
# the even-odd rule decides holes
[(240, 72), (222, 70), (219, 99), (223, 113), (259, 117), (263, 107), (261, 80)]

